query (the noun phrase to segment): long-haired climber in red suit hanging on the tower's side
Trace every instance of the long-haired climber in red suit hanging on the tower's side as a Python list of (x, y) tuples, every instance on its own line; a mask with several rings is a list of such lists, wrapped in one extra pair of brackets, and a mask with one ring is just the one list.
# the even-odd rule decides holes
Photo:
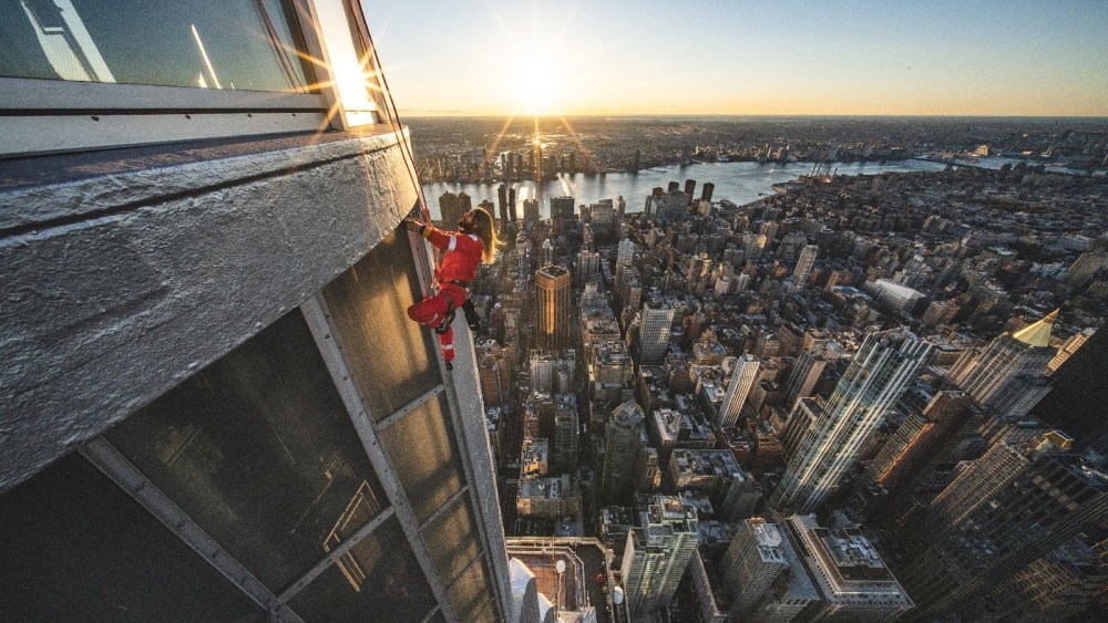
[(442, 346), (442, 359), (447, 370), (452, 370), (454, 361), (454, 310), (462, 308), (470, 328), (476, 326), (476, 312), (470, 302), (470, 283), (476, 277), (478, 264), (483, 259), (492, 263), (496, 259), (496, 230), (492, 216), (482, 208), (473, 208), (458, 221), (458, 231), (442, 231), (431, 225), (406, 219), (404, 227), (419, 231), (435, 248), (444, 251), (442, 263), (434, 270), (434, 288), (438, 294), (430, 294), (408, 308), (408, 318), (434, 329)]

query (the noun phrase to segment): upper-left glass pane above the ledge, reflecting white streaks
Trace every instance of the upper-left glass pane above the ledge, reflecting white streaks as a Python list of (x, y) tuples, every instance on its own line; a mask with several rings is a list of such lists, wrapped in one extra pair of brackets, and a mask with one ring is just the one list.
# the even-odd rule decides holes
[(306, 93), (290, 0), (22, 0), (0, 11), (0, 75)]

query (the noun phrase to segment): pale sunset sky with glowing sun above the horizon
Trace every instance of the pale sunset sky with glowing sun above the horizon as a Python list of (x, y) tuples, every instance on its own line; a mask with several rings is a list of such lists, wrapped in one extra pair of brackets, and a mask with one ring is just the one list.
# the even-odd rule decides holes
[(406, 115), (1108, 116), (1106, 0), (362, 0)]

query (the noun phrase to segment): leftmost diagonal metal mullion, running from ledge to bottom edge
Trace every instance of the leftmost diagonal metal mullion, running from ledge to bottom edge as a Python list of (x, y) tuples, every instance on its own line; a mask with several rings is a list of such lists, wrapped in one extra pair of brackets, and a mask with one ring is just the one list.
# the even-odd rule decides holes
[(193, 521), (107, 439), (96, 437), (85, 444), (80, 453), (252, 601), (266, 609), (278, 621), (302, 623), (273, 591)]

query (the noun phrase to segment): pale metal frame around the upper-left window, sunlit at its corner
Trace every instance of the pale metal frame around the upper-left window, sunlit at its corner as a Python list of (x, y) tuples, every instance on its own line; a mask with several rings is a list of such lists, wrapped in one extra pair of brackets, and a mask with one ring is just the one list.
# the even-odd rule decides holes
[[(315, 0), (293, 0), (296, 29), (311, 59), (316, 93), (233, 91), (64, 80), (0, 77), (0, 158), (182, 141), (347, 129), (329, 70)], [(365, 17), (345, 7), (351, 27)], [(355, 38), (352, 38), (355, 39)], [(360, 42), (352, 41), (356, 50)], [(362, 53), (367, 53), (362, 51)], [(375, 82), (379, 82), (376, 81)], [(368, 90), (373, 123), (382, 87)]]

